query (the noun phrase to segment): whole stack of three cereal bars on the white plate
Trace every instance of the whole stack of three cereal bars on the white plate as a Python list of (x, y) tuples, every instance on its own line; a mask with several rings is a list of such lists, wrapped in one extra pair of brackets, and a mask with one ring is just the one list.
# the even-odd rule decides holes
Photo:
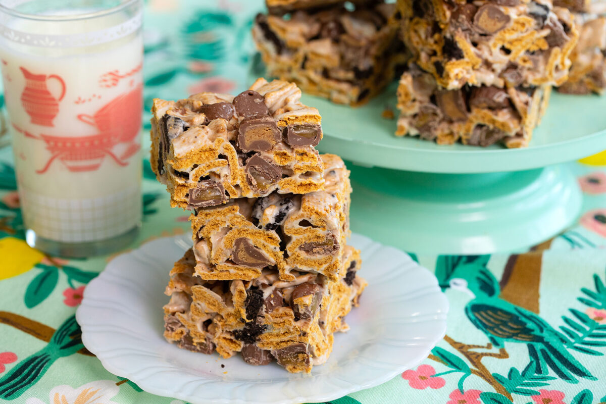
[(193, 211), (165, 291), (164, 336), (180, 348), (310, 372), (348, 328), (366, 285), (347, 245), (349, 171), (315, 150), (321, 117), (300, 97), (258, 79), (235, 98), (154, 101), (151, 166)]

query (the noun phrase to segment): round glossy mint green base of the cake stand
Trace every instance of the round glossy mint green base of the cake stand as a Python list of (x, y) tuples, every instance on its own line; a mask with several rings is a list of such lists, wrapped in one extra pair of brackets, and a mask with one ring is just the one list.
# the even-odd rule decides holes
[(352, 230), (413, 253), (527, 250), (571, 225), (581, 210), (567, 164), (487, 174), (348, 167)]

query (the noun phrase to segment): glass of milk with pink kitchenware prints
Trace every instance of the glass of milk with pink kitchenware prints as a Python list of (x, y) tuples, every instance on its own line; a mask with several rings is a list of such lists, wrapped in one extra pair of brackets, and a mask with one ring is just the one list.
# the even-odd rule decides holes
[(141, 0), (0, 0), (0, 62), (26, 240), (124, 248), (141, 225)]

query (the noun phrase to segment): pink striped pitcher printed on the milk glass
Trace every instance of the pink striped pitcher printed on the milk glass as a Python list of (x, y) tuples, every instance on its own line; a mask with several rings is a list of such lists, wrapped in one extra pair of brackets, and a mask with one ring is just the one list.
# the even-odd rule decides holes
[[(21, 93), (21, 105), (32, 119), (32, 124), (53, 127), (53, 119), (59, 113), (59, 102), (65, 96), (65, 82), (58, 75), (35, 75), (19, 67), (25, 77), (25, 89)], [(61, 95), (55, 98), (48, 91), (47, 81), (54, 79), (61, 84)]]

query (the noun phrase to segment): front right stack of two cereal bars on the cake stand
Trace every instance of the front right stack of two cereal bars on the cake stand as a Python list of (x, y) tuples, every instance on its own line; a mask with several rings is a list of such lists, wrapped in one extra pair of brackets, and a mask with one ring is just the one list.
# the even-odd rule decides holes
[[(398, 0), (400, 34), (413, 58), (398, 87), (396, 134), (439, 144), (527, 146), (551, 86), (568, 79), (579, 37), (562, 3), (583, 0)], [(587, 70), (603, 67), (602, 43), (593, 39), (587, 38), (590, 55), (577, 52), (578, 81), (566, 85), (577, 92), (594, 90)]]

